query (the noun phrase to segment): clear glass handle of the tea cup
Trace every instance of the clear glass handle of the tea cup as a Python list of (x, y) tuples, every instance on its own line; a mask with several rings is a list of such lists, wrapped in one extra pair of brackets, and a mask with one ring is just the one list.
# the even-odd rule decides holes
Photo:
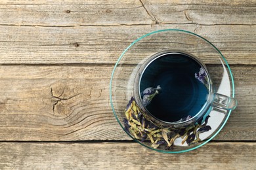
[(223, 94), (215, 93), (213, 98), (213, 107), (218, 107), (225, 110), (236, 109), (238, 101), (233, 97), (228, 97)]

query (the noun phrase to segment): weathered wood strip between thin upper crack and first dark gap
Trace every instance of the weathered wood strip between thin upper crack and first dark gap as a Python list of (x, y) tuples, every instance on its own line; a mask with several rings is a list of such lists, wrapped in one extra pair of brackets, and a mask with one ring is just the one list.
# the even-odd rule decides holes
[[(135, 25), (116, 27), (0, 27), (0, 63), (116, 63), (140, 36), (179, 28), (213, 42), (229, 63), (256, 64), (256, 25)], [(164, 38), (164, 37), (163, 37)], [(159, 42), (161, 44), (164, 42)], [(141, 48), (138, 58), (148, 50)], [(205, 56), (211, 62), (210, 56)], [(127, 61), (136, 63), (137, 60)]]

